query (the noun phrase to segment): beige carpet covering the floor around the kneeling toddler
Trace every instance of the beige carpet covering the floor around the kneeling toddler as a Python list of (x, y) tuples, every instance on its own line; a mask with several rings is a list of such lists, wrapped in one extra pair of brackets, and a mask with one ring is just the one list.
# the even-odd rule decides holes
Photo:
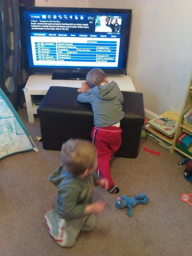
[[(31, 137), (40, 135), (39, 118), (28, 123), (26, 109), (18, 111)], [(52, 136), (50, 134), (50, 140)], [(134, 215), (117, 209), (117, 195), (95, 188), (94, 201), (106, 200), (97, 215), (97, 227), (81, 232), (72, 248), (62, 248), (49, 236), (43, 223), (54, 205), (57, 189), (48, 175), (61, 165), (60, 152), (42, 148), (0, 160), (0, 256), (191, 256), (192, 207), (182, 193), (192, 193), (192, 183), (183, 177), (183, 160), (150, 138), (140, 140), (136, 159), (111, 160), (111, 173), (127, 197), (146, 193), (148, 205), (137, 205)], [(160, 156), (143, 151), (147, 147)]]

